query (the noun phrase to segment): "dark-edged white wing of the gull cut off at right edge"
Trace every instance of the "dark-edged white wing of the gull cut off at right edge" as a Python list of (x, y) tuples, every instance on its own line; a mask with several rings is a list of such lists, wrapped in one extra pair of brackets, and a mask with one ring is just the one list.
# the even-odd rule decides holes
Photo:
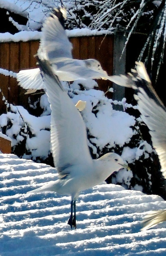
[(137, 84), (138, 109), (141, 118), (150, 129), (153, 146), (159, 155), (161, 171), (166, 178), (166, 108), (160, 101), (152, 85), (139, 80)]

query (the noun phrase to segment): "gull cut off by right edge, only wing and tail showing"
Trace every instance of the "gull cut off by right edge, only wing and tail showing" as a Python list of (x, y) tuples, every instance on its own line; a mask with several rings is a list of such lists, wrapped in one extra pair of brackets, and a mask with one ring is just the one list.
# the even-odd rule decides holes
[[(131, 87), (135, 90), (134, 98), (138, 103), (141, 118), (149, 128), (153, 147), (161, 164), (161, 171), (166, 179), (166, 108), (151, 85), (144, 63), (136, 62), (136, 70), (127, 76), (112, 76), (118, 85)], [(154, 211), (147, 216), (142, 230), (166, 221), (166, 210)]]

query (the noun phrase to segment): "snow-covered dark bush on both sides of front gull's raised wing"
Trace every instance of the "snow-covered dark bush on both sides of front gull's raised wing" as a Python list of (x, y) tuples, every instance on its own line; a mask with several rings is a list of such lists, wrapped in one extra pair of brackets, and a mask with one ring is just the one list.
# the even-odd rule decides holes
[[(159, 160), (141, 119), (126, 111), (114, 110), (112, 105), (117, 101), (106, 98), (103, 91), (92, 89), (97, 86), (93, 80), (74, 82), (70, 86), (64, 83), (63, 86), (74, 104), (78, 100), (87, 102), (81, 115), (87, 127), (92, 157), (116, 152), (129, 163), (131, 170), (120, 170), (112, 174), (107, 182), (163, 195)], [(125, 100), (118, 104), (122, 104), (124, 109), (131, 107)], [(43, 113), (36, 117), (22, 106), (10, 105), (8, 112), (0, 116), (0, 131), (12, 139), (12, 151), (19, 157), (53, 165), (50, 153), (50, 107), (46, 94), (41, 96), (40, 107)], [(156, 183), (161, 187), (160, 192), (159, 189), (155, 191)]]

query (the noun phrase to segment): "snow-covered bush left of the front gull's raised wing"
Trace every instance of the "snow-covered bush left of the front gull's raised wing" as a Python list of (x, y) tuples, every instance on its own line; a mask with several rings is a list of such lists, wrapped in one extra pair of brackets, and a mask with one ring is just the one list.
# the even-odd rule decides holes
[(12, 104), (9, 104), (7, 113), (0, 116), (0, 129), (12, 139), (12, 152), (21, 158), (40, 162), (50, 158), (50, 111), (49, 105), (44, 105), (44, 97), (47, 100), (46, 95), (41, 97), (44, 111), (40, 117)]

